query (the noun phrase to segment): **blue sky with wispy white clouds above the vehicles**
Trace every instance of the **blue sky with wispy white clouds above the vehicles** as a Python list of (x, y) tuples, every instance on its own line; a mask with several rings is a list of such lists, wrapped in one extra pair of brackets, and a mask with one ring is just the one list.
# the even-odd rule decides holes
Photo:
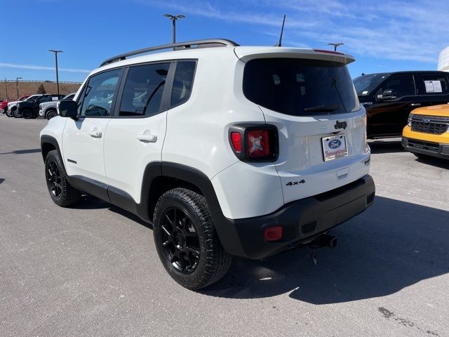
[(163, 13), (184, 14), (177, 41), (224, 37), (244, 45), (329, 48), (356, 57), (362, 72), (435, 70), (449, 46), (449, 1), (365, 0), (2, 0), (0, 79), (82, 81), (113, 55), (166, 44), (171, 23)]

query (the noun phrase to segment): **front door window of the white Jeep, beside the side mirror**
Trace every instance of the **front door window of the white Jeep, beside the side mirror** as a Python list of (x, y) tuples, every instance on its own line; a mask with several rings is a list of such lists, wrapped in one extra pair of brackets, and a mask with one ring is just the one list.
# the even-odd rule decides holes
[(122, 70), (112, 70), (94, 75), (83, 91), (80, 116), (109, 116), (112, 100)]

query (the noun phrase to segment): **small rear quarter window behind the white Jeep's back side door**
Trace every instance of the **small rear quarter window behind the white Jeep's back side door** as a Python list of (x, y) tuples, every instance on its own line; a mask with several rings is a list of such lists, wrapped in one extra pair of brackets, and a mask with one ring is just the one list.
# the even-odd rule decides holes
[(194, 83), (195, 68), (195, 61), (177, 62), (170, 107), (175, 107), (189, 100)]

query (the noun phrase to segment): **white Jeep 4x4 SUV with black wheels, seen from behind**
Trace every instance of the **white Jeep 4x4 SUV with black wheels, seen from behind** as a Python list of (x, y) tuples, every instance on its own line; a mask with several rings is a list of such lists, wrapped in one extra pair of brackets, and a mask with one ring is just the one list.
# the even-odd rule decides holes
[(188, 289), (223, 277), (232, 256), (331, 245), (328, 230), (375, 194), (353, 61), (220, 39), (111, 58), (41, 131), (51, 198), (87, 192), (152, 223)]

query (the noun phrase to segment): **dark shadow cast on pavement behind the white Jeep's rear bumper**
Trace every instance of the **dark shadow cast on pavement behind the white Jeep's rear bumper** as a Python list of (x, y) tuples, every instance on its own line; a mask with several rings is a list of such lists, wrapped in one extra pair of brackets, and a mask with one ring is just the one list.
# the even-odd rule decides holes
[(448, 211), (376, 197), (360, 216), (330, 233), (335, 249), (295, 249), (262, 261), (234, 259), (228, 274), (201, 293), (267, 298), (289, 293), (313, 304), (343, 303), (396, 293), (449, 272)]

